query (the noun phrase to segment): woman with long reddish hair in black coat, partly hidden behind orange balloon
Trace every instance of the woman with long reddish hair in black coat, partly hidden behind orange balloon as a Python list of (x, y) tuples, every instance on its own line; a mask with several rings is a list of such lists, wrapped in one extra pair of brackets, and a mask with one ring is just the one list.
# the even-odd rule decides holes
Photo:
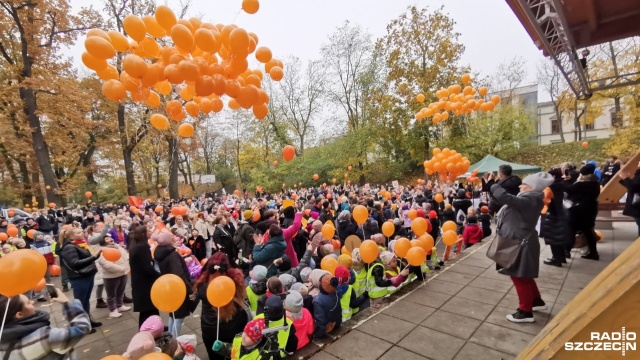
[[(228, 276), (236, 284), (236, 293), (231, 302), (221, 308), (217, 308), (207, 299), (207, 287), (209, 283), (218, 276)], [(200, 278), (193, 285), (193, 291), (202, 300), (202, 314), (200, 325), (202, 327), (202, 340), (210, 360), (223, 360), (224, 357), (212, 350), (216, 339), (231, 343), (236, 334), (244, 330), (244, 326), (249, 321), (247, 312), (244, 310), (245, 297), (244, 276), (239, 269), (232, 268), (229, 258), (224, 252), (213, 254), (207, 261)], [(218, 313), (220, 314), (220, 332), (217, 333)]]

